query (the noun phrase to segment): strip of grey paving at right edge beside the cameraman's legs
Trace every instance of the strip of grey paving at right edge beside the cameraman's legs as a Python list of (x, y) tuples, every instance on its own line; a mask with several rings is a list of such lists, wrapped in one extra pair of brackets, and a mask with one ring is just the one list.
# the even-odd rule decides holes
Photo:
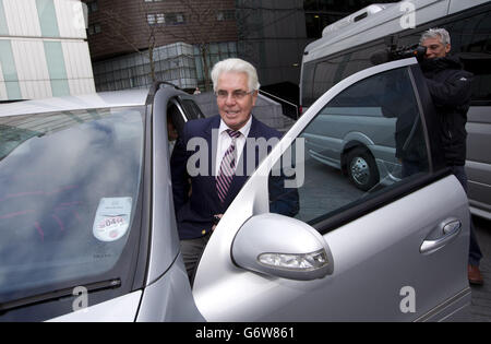
[(471, 287), (472, 304), (469, 311), (469, 321), (491, 322), (491, 221), (476, 216), (472, 220), (483, 254), (480, 269), (484, 277), (484, 285)]

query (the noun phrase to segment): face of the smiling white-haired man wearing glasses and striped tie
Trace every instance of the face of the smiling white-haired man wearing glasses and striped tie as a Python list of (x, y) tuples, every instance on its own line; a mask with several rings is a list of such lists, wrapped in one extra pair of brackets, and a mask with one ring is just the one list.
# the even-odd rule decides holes
[(248, 74), (224, 72), (218, 76), (216, 103), (223, 121), (233, 130), (242, 128), (251, 117), (258, 92), (248, 87)]

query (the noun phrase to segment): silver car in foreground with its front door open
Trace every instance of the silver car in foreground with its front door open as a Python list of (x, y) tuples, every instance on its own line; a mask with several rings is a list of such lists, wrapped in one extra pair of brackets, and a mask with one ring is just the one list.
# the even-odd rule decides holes
[[(340, 98), (348, 107), (351, 96), (367, 92), (363, 80), (381, 76), (402, 83), (392, 96), (408, 102), (394, 114), (399, 130), (386, 132), (402, 143), (387, 154), (406, 171), (362, 192), (306, 152), (303, 132), (321, 128)], [(386, 94), (371, 90), (371, 96)], [(433, 109), (416, 59), (351, 75), (309, 108), (224, 214), (192, 286), (169, 177), (166, 115), (177, 97), (184, 95), (159, 87), (147, 98), (136, 92), (0, 107), (1, 138), (9, 138), (0, 161), (0, 320), (441, 321), (464, 315), (469, 209), (428, 134)], [(285, 192), (298, 192), (295, 217), (270, 212), (270, 185), (278, 178)]]

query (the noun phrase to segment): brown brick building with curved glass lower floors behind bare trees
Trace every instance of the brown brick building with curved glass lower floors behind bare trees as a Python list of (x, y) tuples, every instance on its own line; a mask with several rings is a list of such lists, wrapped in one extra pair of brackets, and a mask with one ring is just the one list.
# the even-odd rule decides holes
[(209, 90), (211, 67), (237, 56), (233, 0), (84, 2), (98, 91), (147, 87), (157, 80)]

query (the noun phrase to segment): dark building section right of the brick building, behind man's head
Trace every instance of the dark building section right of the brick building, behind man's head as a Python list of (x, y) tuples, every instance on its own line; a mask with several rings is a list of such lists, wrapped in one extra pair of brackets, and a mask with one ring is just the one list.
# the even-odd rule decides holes
[(239, 56), (258, 68), (268, 92), (285, 97), (291, 90), (295, 96), (309, 43), (303, 0), (237, 0), (236, 8)]

